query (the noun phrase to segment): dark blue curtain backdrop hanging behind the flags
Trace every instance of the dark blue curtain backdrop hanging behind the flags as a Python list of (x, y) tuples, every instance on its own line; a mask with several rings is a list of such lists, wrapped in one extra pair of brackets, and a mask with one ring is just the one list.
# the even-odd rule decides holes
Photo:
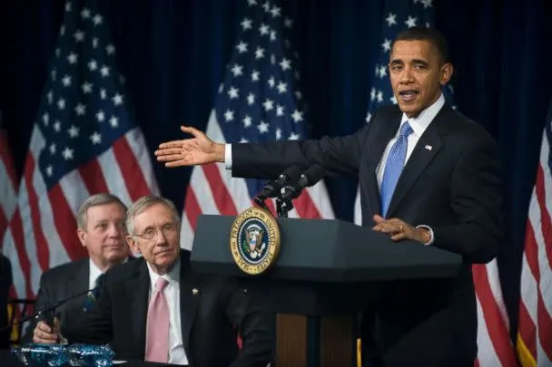
[[(500, 146), (507, 237), (499, 265), (516, 325), (527, 203), (552, 97), (552, 2), (433, 3), (436, 27), (448, 38), (456, 66), (458, 108), (485, 126)], [(150, 149), (179, 138), (181, 123), (204, 129), (243, 2), (120, 0), (101, 5)], [(284, 1), (284, 14), (295, 20), (293, 43), (301, 58), (312, 137), (349, 134), (365, 123), (383, 5), (383, 0)], [(18, 173), (63, 8), (61, 0), (0, 5), (0, 110)], [(163, 195), (179, 207), (190, 171), (155, 165)], [(337, 216), (351, 219), (356, 179), (331, 179), (328, 186)]]

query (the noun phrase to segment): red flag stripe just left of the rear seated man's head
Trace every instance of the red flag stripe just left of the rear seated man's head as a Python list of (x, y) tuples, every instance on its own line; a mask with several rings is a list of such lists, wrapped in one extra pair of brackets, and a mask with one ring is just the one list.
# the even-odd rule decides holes
[(65, 251), (67, 251), (67, 256), (69, 256), (71, 260), (87, 256), (84, 246), (81, 245), (76, 236), (76, 219), (74, 218), (73, 211), (59, 184), (54, 185), (50, 191), (48, 191), (48, 198), (50, 199), (53, 209), (54, 226), (65, 247)]

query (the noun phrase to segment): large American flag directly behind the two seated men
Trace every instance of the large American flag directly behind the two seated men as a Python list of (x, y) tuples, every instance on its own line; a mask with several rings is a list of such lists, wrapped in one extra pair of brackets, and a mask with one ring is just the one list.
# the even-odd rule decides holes
[(36, 294), (45, 270), (86, 254), (75, 234), (85, 198), (111, 192), (128, 204), (158, 191), (115, 51), (96, 2), (67, 1), (3, 242), (19, 297)]

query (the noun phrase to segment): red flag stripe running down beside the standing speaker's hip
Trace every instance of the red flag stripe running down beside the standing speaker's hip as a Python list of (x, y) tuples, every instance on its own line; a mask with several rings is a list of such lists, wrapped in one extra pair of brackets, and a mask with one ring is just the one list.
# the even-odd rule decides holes
[(483, 309), (485, 324), (487, 324), (488, 336), (493, 343), (498, 359), (503, 366), (515, 365), (516, 355), (510, 343), (508, 328), (500, 313), (497, 299), (490, 287), (487, 266), (474, 265), (471, 268), (476, 293)]

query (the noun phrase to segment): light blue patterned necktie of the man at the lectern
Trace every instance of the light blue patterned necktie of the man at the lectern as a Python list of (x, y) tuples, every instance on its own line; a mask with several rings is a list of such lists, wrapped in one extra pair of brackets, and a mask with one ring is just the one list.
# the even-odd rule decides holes
[(412, 128), (409, 122), (405, 122), (399, 131), (399, 137), (397, 141), (389, 150), (389, 156), (385, 163), (385, 171), (383, 172), (383, 179), (381, 179), (381, 216), (385, 217), (389, 203), (393, 197), (393, 192), (399, 181), (400, 172), (404, 166), (405, 159), (407, 158), (407, 147), (409, 145), (409, 135), (412, 133)]

